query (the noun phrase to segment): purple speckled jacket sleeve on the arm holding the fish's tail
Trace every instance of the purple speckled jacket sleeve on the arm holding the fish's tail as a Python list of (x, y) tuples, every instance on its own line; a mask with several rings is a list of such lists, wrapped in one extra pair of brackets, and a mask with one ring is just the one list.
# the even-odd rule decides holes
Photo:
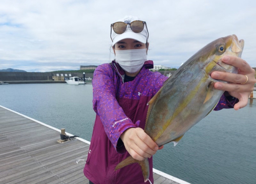
[[(121, 134), (128, 128), (136, 127), (128, 118), (116, 99), (114, 71), (109, 64), (98, 66), (93, 75), (93, 109), (100, 117), (109, 140), (117, 150), (117, 143)], [(125, 148), (118, 149), (119, 153)]]

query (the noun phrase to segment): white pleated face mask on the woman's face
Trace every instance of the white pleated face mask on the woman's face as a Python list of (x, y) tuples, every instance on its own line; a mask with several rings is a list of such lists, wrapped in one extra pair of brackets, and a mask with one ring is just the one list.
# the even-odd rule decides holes
[(146, 61), (146, 48), (132, 50), (115, 50), (116, 62), (124, 71), (135, 73)]

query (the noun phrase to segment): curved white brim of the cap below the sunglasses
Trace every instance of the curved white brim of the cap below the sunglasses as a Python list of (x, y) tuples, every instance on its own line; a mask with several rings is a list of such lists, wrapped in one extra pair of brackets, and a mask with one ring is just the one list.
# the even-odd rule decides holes
[(114, 46), (117, 42), (123, 40), (123, 39), (134, 39), (141, 43), (146, 43), (146, 37), (141, 35), (140, 33), (134, 33), (134, 32), (124, 32), (123, 34), (117, 35), (112, 43), (112, 46)]

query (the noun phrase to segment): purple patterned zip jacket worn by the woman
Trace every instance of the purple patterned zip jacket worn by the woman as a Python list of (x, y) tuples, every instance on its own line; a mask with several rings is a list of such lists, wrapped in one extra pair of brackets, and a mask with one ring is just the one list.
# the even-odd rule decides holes
[[(153, 61), (146, 61), (135, 79), (123, 82), (124, 71), (113, 61), (98, 66), (93, 76), (93, 109), (96, 119), (91, 145), (84, 167), (84, 175), (94, 184), (144, 183), (138, 164), (131, 164), (115, 171), (118, 163), (129, 153), (120, 135), (140, 120), (145, 126), (147, 102), (157, 93), (168, 77), (151, 72)], [(234, 100), (228, 102), (223, 95), (215, 110), (233, 108)], [(153, 181), (153, 160), (150, 161), (150, 180)], [(147, 181), (147, 183), (150, 183)]]

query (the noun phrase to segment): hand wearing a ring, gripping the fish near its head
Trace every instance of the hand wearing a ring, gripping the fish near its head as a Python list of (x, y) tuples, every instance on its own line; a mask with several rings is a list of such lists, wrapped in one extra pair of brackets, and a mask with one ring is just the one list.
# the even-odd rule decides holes
[[(211, 77), (217, 80), (227, 81), (229, 83), (216, 82), (214, 87), (219, 90), (227, 91), (231, 96), (239, 99), (234, 105), (234, 110), (244, 108), (248, 103), (250, 93), (253, 91), (255, 80), (255, 70), (241, 58), (233, 56), (224, 56), (222, 61), (239, 68), (238, 74), (229, 72), (214, 71)], [(247, 77), (248, 79), (247, 79)]]

